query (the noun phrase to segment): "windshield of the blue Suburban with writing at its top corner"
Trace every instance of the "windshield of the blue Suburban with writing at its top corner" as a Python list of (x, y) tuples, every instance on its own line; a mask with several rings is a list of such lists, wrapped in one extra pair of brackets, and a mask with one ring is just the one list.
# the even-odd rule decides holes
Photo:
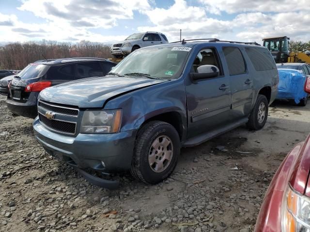
[(150, 78), (176, 79), (190, 50), (191, 47), (186, 46), (139, 49), (116, 65), (111, 73), (140, 73)]

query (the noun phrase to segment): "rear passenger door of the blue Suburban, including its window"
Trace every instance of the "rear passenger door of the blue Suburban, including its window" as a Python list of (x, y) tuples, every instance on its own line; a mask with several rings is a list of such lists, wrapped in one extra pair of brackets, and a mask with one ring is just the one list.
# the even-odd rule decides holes
[(238, 47), (223, 47), (232, 93), (231, 119), (247, 116), (251, 112), (253, 79), (249, 75), (243, 54)]

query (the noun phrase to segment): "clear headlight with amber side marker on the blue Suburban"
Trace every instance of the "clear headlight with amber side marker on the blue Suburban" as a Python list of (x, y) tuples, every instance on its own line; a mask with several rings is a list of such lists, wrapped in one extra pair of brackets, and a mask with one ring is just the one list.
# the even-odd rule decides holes
[(87, 110), (83, 114), (81, 133), (106, 134), (120, 131), (122, 122), (121, 110)]

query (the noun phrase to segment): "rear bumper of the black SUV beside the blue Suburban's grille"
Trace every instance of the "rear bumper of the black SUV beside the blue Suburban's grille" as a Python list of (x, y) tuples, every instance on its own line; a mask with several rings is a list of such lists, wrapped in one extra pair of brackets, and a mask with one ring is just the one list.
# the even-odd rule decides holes
[(9, 111), (11, 111), (13, 114), (30, 118), (35, 118), (38, 116), (36, 102), (16, 102), (8, 98), (6, 103)]

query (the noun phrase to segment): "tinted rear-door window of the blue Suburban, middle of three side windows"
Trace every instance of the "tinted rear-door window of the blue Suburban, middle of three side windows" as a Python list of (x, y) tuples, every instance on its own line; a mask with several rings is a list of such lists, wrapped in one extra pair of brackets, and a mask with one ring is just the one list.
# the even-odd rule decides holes
[(231, 76), (246, 73), (246, 64), (239, 48), (223, 47), (223, 52)]

